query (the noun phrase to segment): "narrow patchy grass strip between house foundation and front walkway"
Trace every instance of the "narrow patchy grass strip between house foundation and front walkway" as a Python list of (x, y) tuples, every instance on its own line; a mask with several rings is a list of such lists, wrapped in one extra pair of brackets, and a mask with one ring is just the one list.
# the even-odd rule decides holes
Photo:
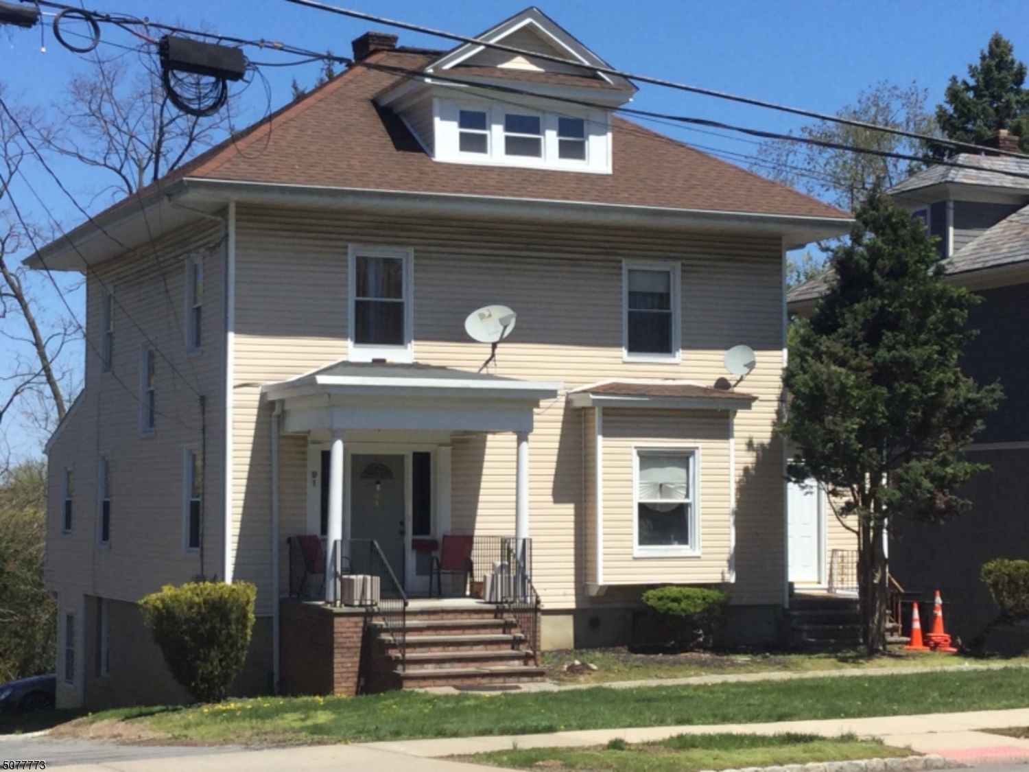
[[(596, 670), (572, 665), (596, 665)], [(732, 673), (764, 672), (818, 672), (845, 668), (893, 667), (962, 667), (966, 664), (984, 664), (991, 660), (955, 657), (935, 652), (890, 652), (870, 657), (864, 652), (835, 653), (782, 653), (720, 655), (704, 652), (683, 654), (632, 654), (627, 648), (593, 648), (579, 651), (544, 652), (542, 664), (549, 669), (549, 676), (562, 683), (605, 683), (618, 680), (644, 680), (650, 678), (686, 678), (695, 675), (721, 675)], [(1029, 657), (992, 660), (1005, 665), (1029, 665)], [(565, 665), (572, 665), (564, 670)]]

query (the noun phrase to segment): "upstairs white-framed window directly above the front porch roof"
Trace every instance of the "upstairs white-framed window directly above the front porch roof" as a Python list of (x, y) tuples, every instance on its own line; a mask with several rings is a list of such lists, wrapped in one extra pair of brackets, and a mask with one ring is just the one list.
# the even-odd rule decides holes
[(412, 361), (411, 249), (350, 247), (350, 358)]

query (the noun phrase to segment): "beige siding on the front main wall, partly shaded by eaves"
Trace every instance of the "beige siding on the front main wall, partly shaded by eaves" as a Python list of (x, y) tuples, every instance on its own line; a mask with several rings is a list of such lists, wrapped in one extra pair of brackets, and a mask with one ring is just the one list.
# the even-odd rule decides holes
[[(235, 559), (237, 576), (261, 586), (259, 598), (265, 600), (259, 600), (258, 612), (268, 604), (262, 583), (269, 577), (271, 407), (259, 405), (253, 384), (346, 357), (350, 243), (414, 249), (419, 362), (477, 370), (489, 347), (468, 340), (464, 319), (490, 303), (519, 314), (491, 372), (562, 381), (566, 389), (617, 377), (710, 385), (726, 375), (728, 348), (739, 343), (754, 348), (757, 367), (739, 387), (758, 401), (752, 411), (741, 411), (736, 424), (734, 594), (739, 602), (781, 602), (784, 489), (780, 443), (772, 436), (782, 361), (777, 239), (251, 207), (240, 207), (238, 218)], [(681, 261), (680, 364), (623, 361), (625, 258)], [(581, 590), (578, 547), (587, 520), (581, 422), (562, 394), (540, 406), (529, 440), (534, 582), (551, 609), (574, 606)], [(512, 534), (513, 434), (455, 438), (453, 447), (452, 529)], [(724, 487), (728, 492), (728, 481)]]

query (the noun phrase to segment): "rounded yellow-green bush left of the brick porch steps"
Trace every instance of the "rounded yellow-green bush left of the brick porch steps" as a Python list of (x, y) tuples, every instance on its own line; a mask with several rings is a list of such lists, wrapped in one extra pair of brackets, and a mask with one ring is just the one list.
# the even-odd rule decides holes
[(166, 585), (140, 600), (172, 677), (197, 701), (224, 700), (243, 669), (256, 597), (257, 588), (246, 582), (216, 582)]

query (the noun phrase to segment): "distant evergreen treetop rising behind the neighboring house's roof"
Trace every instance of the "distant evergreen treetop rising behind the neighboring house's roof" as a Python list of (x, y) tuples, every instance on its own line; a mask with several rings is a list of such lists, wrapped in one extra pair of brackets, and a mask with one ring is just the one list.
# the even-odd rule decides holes
[[(969, 65), (968, 79), (956, 75), (944, 93), (946, 104), (936, 106), (936, 122), (947, 139), (978, 143), (998, 129), (1019, 138), (1019, 148), (1029, 152), (1029, 91), (1023, 87), (1026, 66), (1015, 59), (1015, 48), (995, 32), (979, 65)], [(933, 144), (934, 157), (950, 157), (959, 151)]]

